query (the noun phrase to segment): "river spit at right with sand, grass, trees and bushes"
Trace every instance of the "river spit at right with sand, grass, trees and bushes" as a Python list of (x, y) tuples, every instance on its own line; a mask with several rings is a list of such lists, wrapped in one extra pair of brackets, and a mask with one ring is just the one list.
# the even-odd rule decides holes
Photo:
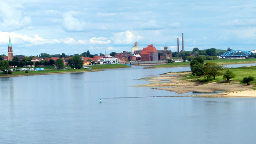
[[(168, 72), (160, 77), (150, 77), (148, 81), (154, 82), (139, 86), (150, 86), (159, 90), (167, 90), (179, 94), (187, 92), (215, 92), (226, 91), (217, 95), (205, 96), (256, 96), (255, 85), (255, 70), (256, 66), (246, 66), (239, 68), (225, 68), (221, 64), (214, 62), (206, 62), (200, 57), (195, 57), (190, 62), (191, 72)], [(168, 76), (170, 75), (170, 76)], [(176, 75), (176, 76), (175, 76)], [(177, 76), (178, 75), (178, 76)], [(231, 78), (233, 78), (231, 80)], [(146, 78), (144, 78), (146, 79)], [(161, 82), (170, 81), (170, 82)], [(232, 81), (230, 83), (230, 81)], [(246, 83), (247, 85), (240, 84)], [(157, 88), (159, 87), (159, 88)], [(239, 94), (230, 94), (235, 91), (244, 90)]]

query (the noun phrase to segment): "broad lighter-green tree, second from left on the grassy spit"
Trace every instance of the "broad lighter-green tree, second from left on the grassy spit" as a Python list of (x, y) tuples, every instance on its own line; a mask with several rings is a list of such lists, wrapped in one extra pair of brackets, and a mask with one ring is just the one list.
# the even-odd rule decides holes
[(222, 65), (218, 65), (214, 62), (206, 62), (204, 64), (203, 70), (204, 70), (204, 76), (207, 78), (213, 77), (213, 80), (215, 80), (216, 76), (220, 76), (222, 73), (221, 71), (223, 70)]

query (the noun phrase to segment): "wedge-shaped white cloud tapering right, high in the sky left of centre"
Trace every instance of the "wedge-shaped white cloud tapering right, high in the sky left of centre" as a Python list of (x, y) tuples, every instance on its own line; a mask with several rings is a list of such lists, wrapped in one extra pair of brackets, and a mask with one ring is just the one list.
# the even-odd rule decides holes
[(92, 24), (90, 22), (85, 22), (84, 20), (79, 20), (78, 18), (74, 18), (75, 12), (67, 12), (63, 14), (63, 28), (69, 32), (84, 32), (84, 31), (92, 31), (92, 30), (104, 30), (104, 26), (98, 26), (96, 24)]

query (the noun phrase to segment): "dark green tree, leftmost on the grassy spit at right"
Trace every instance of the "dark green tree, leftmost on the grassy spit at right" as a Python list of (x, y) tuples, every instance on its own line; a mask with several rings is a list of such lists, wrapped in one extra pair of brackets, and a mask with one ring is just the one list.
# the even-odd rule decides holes
[(197, 56), (196, 58), (194, 58), (193, 60), (191, 60), (190, 62), (190, 69), (192, 72), (192, 75), (196, 75), (196, 76), (202, 76), (204, 75), (203, 72), (203, 65), (204, 64), (204, 59), (200, 56)]

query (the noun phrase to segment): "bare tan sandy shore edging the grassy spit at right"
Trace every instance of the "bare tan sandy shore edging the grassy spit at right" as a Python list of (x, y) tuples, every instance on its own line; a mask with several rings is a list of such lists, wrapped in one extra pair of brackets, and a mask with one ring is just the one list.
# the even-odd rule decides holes
[[(167, 90), (176, 92), (179, 94), (188, 93), (188, 92), (215, 92), (215, 91), (225, 91), (221, 94), (204, 94), (198, 96), (206, 96), (206, 97), (256, 97), (256, 90), (253, 90), (253, 85), (247, 86), (246, 84), (240, 84), (239, 82), (231, 82), (231, 83), (217, 83), (212, 82), (208, 84), (199, 84), (197, 82), (189, 82), (188, 80), (180, 80), (182, 74), (188, 74), (188, 72), (184, 73), (168, 73), (159, 77), (151, 78), (150, 82), (158, 82), (151, 83), (146, 85), (139, 86), (148, 86), (158, 90)], [(170, 76), (168, 76), (170, 75)], [(161, 81), (169, 81), (169, 82), (161, 82)]]

